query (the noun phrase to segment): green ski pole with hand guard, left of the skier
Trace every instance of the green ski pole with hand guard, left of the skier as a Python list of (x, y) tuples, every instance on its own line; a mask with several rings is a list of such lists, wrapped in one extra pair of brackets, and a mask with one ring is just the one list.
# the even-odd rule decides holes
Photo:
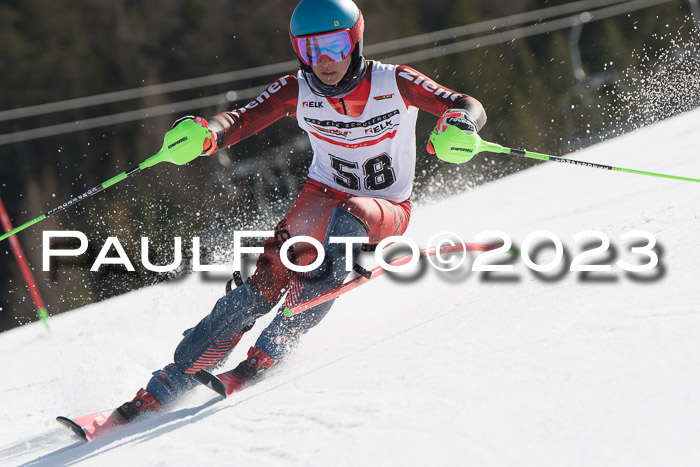
[(75, 196), (74, 198), (66, 201), (65, 203), (57, 206), (50, 211), (42, 214), (36, 219), (32, 219), (29, 222), (25, 222), (12, 229), (11, 231), (0, 236), (0, 241), (5, 240), (22, 230), (31, 227), (32, 225), (43, 221), (49, 216), (56, 214), (57, 212), (63, 211), (64, 209), (79, 203), (80, 201), (89, 198), (90, 196), (96, 195), (102, 190), (106, 190), (112, 185), (116, 185), (125, 178), (131, 177), (134, 174), (139, 173), (143, 169), (153, 167), (161, 162), (170, 162), (175, 165), (185, 165), (188, 162), (193, 161), (197, 157), (202, 155), (202, 149), (204, 147), (204, 142), (206, 139), (211, 137), (211, 131), (208, 128), (202, 127), (195, 123), (194, 120), (187, 119), (180, 122), (172, 130), (165, 134), (163, 139), (163, 147), (154, 156), (149, 157), (145, 161), (141, 162), (126, 172), (122, 172), (116, 177), (112, 177), (104, 183), (101, 183), (82, 195)]

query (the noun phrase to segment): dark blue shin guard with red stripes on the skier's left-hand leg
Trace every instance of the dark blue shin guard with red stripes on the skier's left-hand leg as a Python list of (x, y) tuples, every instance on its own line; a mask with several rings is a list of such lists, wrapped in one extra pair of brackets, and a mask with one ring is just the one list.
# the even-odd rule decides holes
[(270, 311), (252, 282), (231, 290), (197, 326), (186, 332), (175, 349), (175, 365), (185, 374), (216, 366), (240, 339), (239, 334)]

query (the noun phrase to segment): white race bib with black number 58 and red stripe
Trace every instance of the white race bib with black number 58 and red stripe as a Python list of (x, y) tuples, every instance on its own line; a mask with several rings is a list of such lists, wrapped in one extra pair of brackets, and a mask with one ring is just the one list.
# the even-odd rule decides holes
[(406, 108), (396, 66), (373, 62), (372, 86), (362, 115), (333, 109), (298, 74), (297, 122), (314, 151), (309, 177), (339, 191), (402, 202), (411, 196), (416, 170), (418, 109)]

